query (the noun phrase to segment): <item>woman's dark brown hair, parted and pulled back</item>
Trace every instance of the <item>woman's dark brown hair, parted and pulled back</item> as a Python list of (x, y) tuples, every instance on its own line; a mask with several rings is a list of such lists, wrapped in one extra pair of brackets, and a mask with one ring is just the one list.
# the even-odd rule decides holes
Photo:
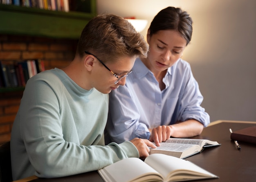
[(167, 7), (157, 13), (150, 24), (150, 36), (159, 30), (177, 30), (186, 39), (187, 44), (192, 37), (192, 18), (180, 8)]

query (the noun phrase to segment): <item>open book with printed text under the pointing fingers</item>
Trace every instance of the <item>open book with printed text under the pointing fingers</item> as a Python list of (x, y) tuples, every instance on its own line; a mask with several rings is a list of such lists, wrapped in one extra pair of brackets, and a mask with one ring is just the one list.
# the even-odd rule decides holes
[(216, 141), (189, 138), (169, 138), (160, 143), (156, 149), (150, 149), (150, 154), (163, 153), (177, 158), (187, 158), (196, 153), (202, 152), (205, 147), (220, 145)]

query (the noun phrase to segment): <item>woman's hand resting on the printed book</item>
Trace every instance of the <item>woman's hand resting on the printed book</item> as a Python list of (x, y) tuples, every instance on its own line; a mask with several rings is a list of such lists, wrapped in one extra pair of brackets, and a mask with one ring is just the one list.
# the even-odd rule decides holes
[(160, 142), (163, 142), (171, 137), (171, 127), (170, 126), (158, 126), (151, 130), (151, 135), (149, 140), (155, 142), (156, 146), (160, 146)]

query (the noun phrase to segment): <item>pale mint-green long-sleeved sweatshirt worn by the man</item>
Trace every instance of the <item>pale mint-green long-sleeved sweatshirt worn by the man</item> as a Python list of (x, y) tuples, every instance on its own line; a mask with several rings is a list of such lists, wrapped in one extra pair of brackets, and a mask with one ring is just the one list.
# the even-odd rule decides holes
[(104, 146), (107, 117), (108, 94), (84, 90), (63, 70), (29, 79), (11, 132), (13, 180), (74, 175), (139, 157), (129, 141)]

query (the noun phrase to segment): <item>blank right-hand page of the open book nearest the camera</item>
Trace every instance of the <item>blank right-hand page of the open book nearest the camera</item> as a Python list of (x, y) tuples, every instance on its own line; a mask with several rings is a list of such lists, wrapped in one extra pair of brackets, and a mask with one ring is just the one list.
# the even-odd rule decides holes
[(165, 179), (164, 181), (217, 178), (216, 175), (198, 167), (192, 162), (164, 154), (152, 154), (145, 159), (145, 163), (161, 173)]

